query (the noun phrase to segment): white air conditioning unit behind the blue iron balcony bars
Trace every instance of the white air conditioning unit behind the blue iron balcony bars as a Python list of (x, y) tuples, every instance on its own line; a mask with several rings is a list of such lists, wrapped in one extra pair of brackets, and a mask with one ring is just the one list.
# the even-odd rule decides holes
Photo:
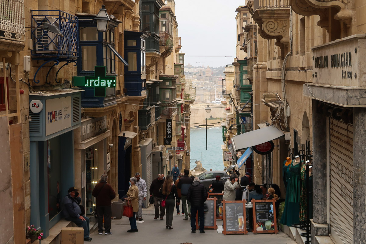
[[(55, 18), (35, 18), (36, 26), (42, 26), (44, 23), (50, 23), (52, 25), (57, 26), (59, 28), (59, 21)], [(34, 31), (33, 40), (36, 43), (35, 49), (36, 53), (57, 53), (57, 49), (59, 46), (59, 37), (55, 33), (51, 33), (47, 30), (43, 30), (41, 28), (37, 28)]]

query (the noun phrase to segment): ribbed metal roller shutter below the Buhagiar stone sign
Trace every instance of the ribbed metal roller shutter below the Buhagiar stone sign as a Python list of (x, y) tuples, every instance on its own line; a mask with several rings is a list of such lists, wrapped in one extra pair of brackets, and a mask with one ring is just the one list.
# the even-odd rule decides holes
[(330, 235), (353, 243), (353, 127), (330, 119)]

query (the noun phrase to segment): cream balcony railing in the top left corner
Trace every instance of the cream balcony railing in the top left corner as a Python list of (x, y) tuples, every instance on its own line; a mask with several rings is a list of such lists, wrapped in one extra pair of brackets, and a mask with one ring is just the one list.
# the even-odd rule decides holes
[(24, 41), (24, 0), (0, 0), (0, 38)]

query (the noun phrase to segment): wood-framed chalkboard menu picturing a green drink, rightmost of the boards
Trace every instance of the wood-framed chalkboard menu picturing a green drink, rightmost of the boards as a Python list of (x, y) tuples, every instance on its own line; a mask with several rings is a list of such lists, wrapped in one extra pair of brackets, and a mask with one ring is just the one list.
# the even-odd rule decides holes
[(276, 200), (252, 200), (253, 233), (276, 233)]

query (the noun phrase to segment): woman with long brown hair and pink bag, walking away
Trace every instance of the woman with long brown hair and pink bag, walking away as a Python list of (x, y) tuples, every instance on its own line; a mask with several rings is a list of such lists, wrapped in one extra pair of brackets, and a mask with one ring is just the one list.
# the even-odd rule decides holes
[(179, 202), (180, 199), (177, 188), (175, 187), (175, 184), (173, 184), (173, 177), (170, 174), (167, 175), (163, 187), (160, 188), (160, 192), (163, 194), (163, 199), (165, 199), (165, 210), (167, 211), (167, 216), (165, 218), (167, 224), (166, 228), (172, 230), (174, 205)]

